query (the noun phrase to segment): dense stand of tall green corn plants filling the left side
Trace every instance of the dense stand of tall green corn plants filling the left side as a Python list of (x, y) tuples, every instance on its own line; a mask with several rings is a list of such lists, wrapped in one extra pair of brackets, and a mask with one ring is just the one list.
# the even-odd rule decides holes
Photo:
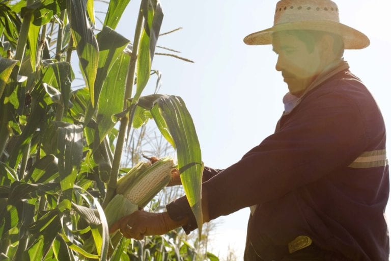
[[(115, 196), (131, 128), (149, 119), (177, 151), (201, 234), (201, 150), (191, 117), (178, 96), (142, 96), (162, 8), (141, 0), (130, 41), (115, 31), (128, 3), (111, 0), (97, 34), (92, 0), (0, 3), (2, 258), (120, 260), (129, 241), (110, 243), (103, 208)], [(77, 90), (72, 55), (85, 83)]]

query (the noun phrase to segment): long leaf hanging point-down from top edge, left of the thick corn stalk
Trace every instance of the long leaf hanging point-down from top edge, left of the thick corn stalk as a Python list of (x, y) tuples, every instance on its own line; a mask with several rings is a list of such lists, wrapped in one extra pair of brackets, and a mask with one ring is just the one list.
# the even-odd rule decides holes
[(95, 106), (94, 83), (98, 71), (99, 47), (82, 0), (67, 0), (71, 33), (76, 45), (81, 71), (90, 90), (91, 104)]

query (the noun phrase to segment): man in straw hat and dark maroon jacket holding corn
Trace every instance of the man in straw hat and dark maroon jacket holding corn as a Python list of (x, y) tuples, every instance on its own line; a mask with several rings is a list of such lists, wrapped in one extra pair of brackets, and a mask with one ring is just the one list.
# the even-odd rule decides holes
[[(384, 122), (342, 59), (369, 39), (340, 23), (329, 0), (283, 0), (273, 27), (244, 42), (272, 44), (289, 89), (285, 112), (239, 162), (205, 168), (205, 222), (250, 206), (244, 260), (388, 260)], [(166, 208), (133, 213), (111, 231), (142, 239), (197, 227), (185, 197)]]

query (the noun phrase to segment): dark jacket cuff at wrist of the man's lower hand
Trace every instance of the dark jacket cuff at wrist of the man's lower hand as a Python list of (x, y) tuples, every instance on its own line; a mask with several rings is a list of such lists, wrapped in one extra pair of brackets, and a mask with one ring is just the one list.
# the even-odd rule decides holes
[(174, 221), (180, 221), (184, 218), (188, 218), (187, 224), (182, 226), (186, 234), (189, 234), (192, 230), (198, 228), (186, 196), (174, 200), (170, 204), (166, 205), (165, 208), (170, 218)]

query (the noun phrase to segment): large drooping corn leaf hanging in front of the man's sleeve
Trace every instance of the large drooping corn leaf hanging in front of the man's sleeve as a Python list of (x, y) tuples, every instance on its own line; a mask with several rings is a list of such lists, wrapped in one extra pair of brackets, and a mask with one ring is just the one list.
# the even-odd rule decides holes
[(199, 235), (201, 236), (203, 224), (201, 207), (203, 164), (200, 143), (185, 103), (178, 96), (153, 94), (141, 97), (138, 106), (151, 111), (160, 132), (177, 149), (178, 168), (181, 173), (182, 185), (197, 220)]

